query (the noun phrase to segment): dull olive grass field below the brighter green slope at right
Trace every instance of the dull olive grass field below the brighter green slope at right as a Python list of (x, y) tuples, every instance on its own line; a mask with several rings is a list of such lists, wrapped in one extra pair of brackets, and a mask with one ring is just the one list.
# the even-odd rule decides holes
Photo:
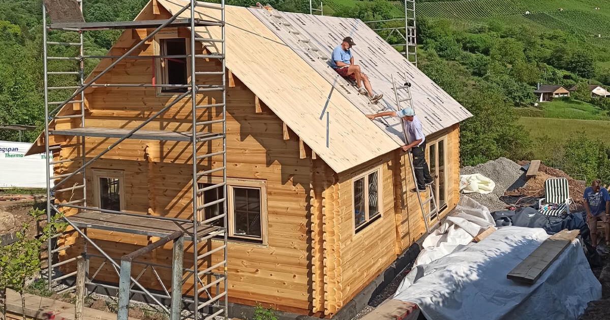
[(550, 149), (564, 143), (565, 140), (584, 132), (590, 138), (600, 138), (610, 146), (606, 133), (610, 130), (610, 121), (575, 120), (522, 117), (519, 123), (529, 130), (533, 140), (534, 158), (544, 158)]

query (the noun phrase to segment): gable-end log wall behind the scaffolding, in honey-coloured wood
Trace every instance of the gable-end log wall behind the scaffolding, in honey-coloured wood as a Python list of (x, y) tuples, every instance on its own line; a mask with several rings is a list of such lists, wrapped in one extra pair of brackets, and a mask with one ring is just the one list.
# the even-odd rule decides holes
[[(148, 10), (148, 9), (147, 9)], [(143, 15), (148, 14), (143, 12)], [(146, 18), (146, 17), (144, 17)], [(167, 30), (166, 35), (180, 37), (181, 30)], [(138, 32), (124, 32), (110, 54), (121, 54), (142, 37)], [(203, 50), (198, 49), (199, 52)], [(139, 55), (155, 53), (154, 42), (142, 46)], [(106, 63), (102, 62), (102, 65)], [(198, 71), (216, 71), (218, 64), (213, 61), (199, 63)], [(151, 60), (124, 60), (99, 80), (100, 83), (140, 84), (152, 81), (154, 64)], [(95, 73), (94, 73), (95, 74)], [(210, 81), (198, 77), (199, 84), (220, 84), (221, 79)], [(227, 176), (228, 184), (234, 179), (249, 179), (263, 183), (267, 194), (267, 215), (263, 229), (267, 229), (263, 243), (229, 241), (229, 297), (232, 302), (254, 305), (260, 302), (273, 308), (295, 313), (311, 313), (314, 297), (312, 288), (312, 233), (310, 224), (312, 207), (312, 160), (310, 149), (302, 146), (296, 135), (285, 128), (264, 102), (243, 85), (239, 79), (229, 74), (227, 91)], [(174, 95), (175, 96), (175, 95)], [(96, 88), (86, 94), (87, 116), (85, 126), (131, 129), (145, 121), (173, 99), (160, 95), (155, 88)], [(198, 94), (198, 104), (220, 101), (220, 93)], [(168, 112), (149, 123), (144, 129), (188, 131), (191, 125), (190, 100), (184, 99)], [(76, 111), (74, 111), (76, 113)], [(221, 113), (213, 109), (197, 113), (198, 121), (220, 119)], [(57, 124), (59, 126), (59, 124)], [(65, 126), (77, 126), (77, 122)], [(220, 132), (221, 124), (213, 124), (213, 131)], [(76, 138), (65, 138), (66, 141)], [(87, 157), (91, 158), (107, 149), (115, 139), (87, 138)], [(205, 152), (217, 152), (221, 140), (203, 145)], [(87, 169), (88, 185), (93, 185), (94, 171), (117, 171), (122, 176), (122, 196), (126, 212), (142, 215), (171, 216), (190, 219), (192, 213), (192, 161), (191, 146), (173, 141), (152, 141), (129, 139), (112, 149), (104, 157)], [(301, 149), (308, 157), (301, 158)], [(68, 154), (78, 154), (79, 148), (65, 148), (56, 153), (56, 159)], [(202, 151), (201, 154), (204, 152)], [(318, 160), (320, 161), (320, 160)], [(222, 157), (215, 156), (202, 160), (200, 168), (212, 169), (222, 165)], [(55, 171), (62, 174), (68, 166), (57, 165)], [(71, 165), (70, 169), (78, 168)], [(216, 172), (220, 173), (220, 172)], [(207, 181), (200, 181), (207, 182)], [(70, 184), (68, 182), (67, 184)], [(319, 186), (323, 182), (318, 183)], [(318, 187), (319, 193), (322, 192)], [(82, 196), (82, 194), (81, 194)], [(73, 196), (68, 193), (57, 195), (59, 202), (68, 202)], [(88, 187), (89, 204), (95, 202), (94, 190)], [(320, 203), (321, 205), (321, 203)], [(66, 211), (66, 215), (73, 214)], [(318, 216), (319, 218), (319, 216)], [(113, 257), (135, 251), (155, 238), (88, 230), (88, 235)], [(63, 258), (73, 257), (82, 251), (82, 240), (76, 236), (62, 241), (76, 243)], [(220, 246), (221, 241), (209, 241), (210, 249)], [(187, 251), (193, 252), (187, 243)], [(171, 246), (157, 250), (151, 261), (171, 265)], [(198, 248), (203, 250), (204, 248)], [(88, 251), (91, 251), (89, 246)], [(192, 264), (193, 254), (185, 254), (185, 266)], [(316, 256), (318, 261), (321, 257)], [(219, 255), (203, 266), (215, 265)], [(95, 272), (101, 259), (91, 260), (90, 272)], [(66, 269), (71, 266), (65, 266)], [(134, 268), (134, 274), (140, 269)], [(157, 269), (164, 280), (170, 280), (169, 270)], [(221, 271), (220, 269), (217, 271)], [(320, 273), (316, 274), (321, 277)], [(118, 277), (109, 265), (104, 266), (96, 280), (117, 283)], [(150, 288), (160, 288), (154, 275), (148, 271), (142, 277)], [(188, 279), (184, 291), (191, 291), (192, 278)], [(212, 293), (213, 294), (213, 293)], [(318, 300), (318, 303), (320, 300)]]

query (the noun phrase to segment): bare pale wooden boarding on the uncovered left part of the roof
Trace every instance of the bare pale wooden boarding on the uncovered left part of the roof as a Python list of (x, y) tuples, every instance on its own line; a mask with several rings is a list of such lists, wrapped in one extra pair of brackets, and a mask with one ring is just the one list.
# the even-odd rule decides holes
[[(158, 2), (170, 13), (188, 3)], [(220, 16), (218, 10), (197, 7), (196, 11), (196, 18)], [(400, 147), (348, 99), (329, 95), (332, 85), (248, 9), (227, 5), (225, 21), (227, 68), (334, 171), (345, 171)], [(220, 38), (219, 28), (197, 27), (196, 31), (199, 37)], [(329, 113), (328, 128), (323, 110)]]

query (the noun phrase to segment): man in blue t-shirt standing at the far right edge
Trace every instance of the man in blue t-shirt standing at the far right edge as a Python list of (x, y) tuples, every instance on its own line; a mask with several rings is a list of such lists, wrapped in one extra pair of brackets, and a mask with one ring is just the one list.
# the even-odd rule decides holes
[(610, 195), (606, 188), (601, 187), (599, 179), (593, 180), (591, 187), (584, 190), (584, 209), (587, 212), (587, 223), (591, 233), (591, 242), (597, 246), (597, 221), (604, 222), (604, 232), (606, 233), (606, 246), (610, 244), (610, 225), (608, 215), (610, 215)]

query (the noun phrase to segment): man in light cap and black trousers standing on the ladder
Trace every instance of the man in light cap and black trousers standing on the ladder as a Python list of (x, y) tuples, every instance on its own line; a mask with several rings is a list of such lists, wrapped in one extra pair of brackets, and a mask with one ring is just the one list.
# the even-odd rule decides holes
[[(403, 118), (404, 134), (409, 144), (403, 146), (403, 151), (411, 150), (413, 154), (413, 166), (415, 168), (415, 179), (417, 180), (417, 191), (425, 192), (426, 186), (434, 183), (434, 179), (430, 176), (430, 169), (426, 163), (426, 135), (423, 134), (422, 122), (415, 116), (413, 108), (408, 107), (398, 112), (387, 111), (376, 113), (375, 115), (367, 115), (367, 118), (373, 120), (380, 116), (397, 116)], [(411, 190), (415, 192), (415, 189)]]

